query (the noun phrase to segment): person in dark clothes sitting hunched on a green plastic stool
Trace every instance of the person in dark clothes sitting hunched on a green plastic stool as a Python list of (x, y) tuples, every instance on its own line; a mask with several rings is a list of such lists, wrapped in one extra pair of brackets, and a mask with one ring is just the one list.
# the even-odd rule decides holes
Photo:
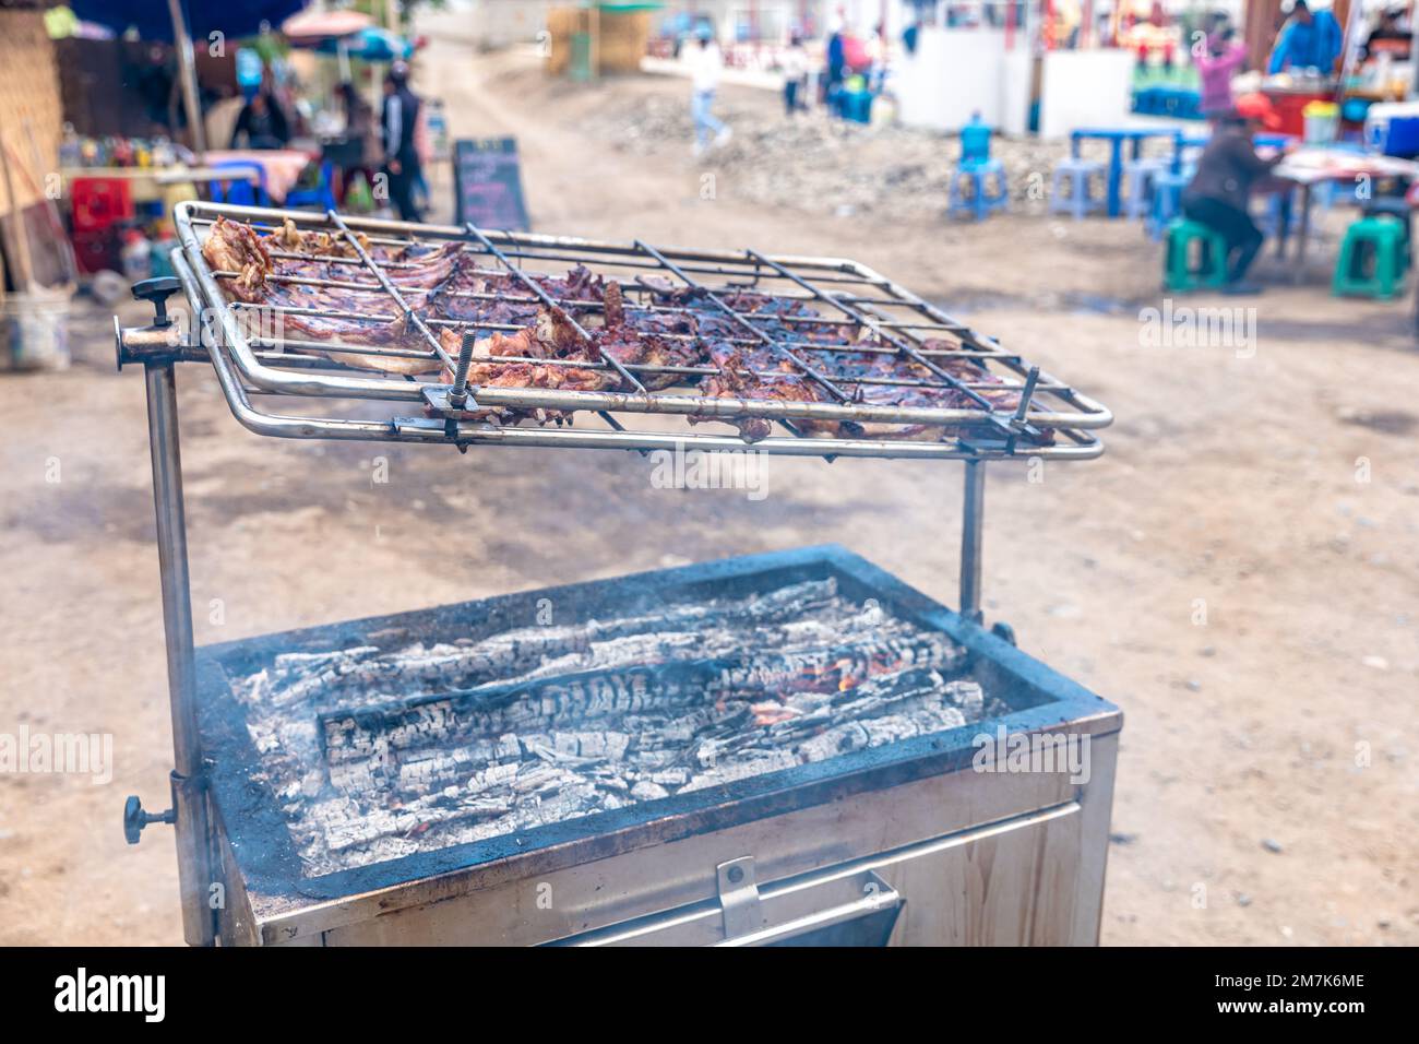
[(1232, 112), (1218, 121), (1198, 161), (1198, 173), (1182, 190), (1182, 213), (1222, 233), (1227, 243), (1226, 293), (1260, 291), (1260, 287), (1243, 281), (1264, 239), (1247, 213), (1247, 199), (1253, 183), (1270, 176), (1281, 153), (1261, 159), (1256, 155), (1252, 135), (1257, 125), (1274, 129), (1280, 122), (1266, 95), (1244, 94), (1237, 98)]

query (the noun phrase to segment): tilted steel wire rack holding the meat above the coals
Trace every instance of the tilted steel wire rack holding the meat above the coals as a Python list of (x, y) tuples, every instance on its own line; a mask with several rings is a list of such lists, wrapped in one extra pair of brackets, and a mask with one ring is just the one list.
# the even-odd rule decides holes
[[(369, 294), (370, 308), (359, 312), (292, 308), (289, 305), (243, 305), (227, 301), (221, 286), (236, 273), (211, 270), (201, 256), (206, 233), (217, 217), (247, 222), (258, 232), (280, 230), (291, 220), (301, 232), (328, 233), (352, 249), (353, 257), (328, 256), (304, 260), (324, 260), (329, 266), (349, 268), (350, 278), (314, 280), (280, 276), (274, 278)], [(297, 439), (346, 439), (372, 442), (450, 443), (509, 446), (569, 446), (583, 449), (622, 449), (648, 452), (654, 449), (744, 450), (785, 456), (901, 457), (946, 460), (993, 459), (1053, 459), (1084, 460), (1103, 453), (1103, 443), (1094, 429), (1112, 422), (1107, 408), (1090, 399), (1057, 378), (1030, 366), (1020, 355), (1006, 352), (993, 338), (985, 337), (942, 310), (917, 297), (900, 284), (856, 261), (832, 257), (766, 256), (756, 250), (742, 253), (702, 251), (656, 247), (643, 240), (607, 243), (597, 240), (542, 236), (534, 233), (492, 232), (473, 224), (441, 226), (412, 224), (379, 219), (345, 217), (333, 210), (324, 214), (309, 210), (280, 210), (244, 207), (203, 202), (186, 202), (175, 209), (180, 250), (175, 251), (175, 267), (193, 310), (194, 342), (201, 344), (211, 358), (219, 382), (236, 418), (248, 429), (270, 436)], [(464, 322), (421, 317), (410, 308), (399, 287), (389, 278), (389, 270), (403, 261), (379, 261), (365, 249), (359, 236), (377, 246), (407, 246), (412, 243), (438, 246), (460, 243), (460, 250), (477, 256), (480, 273), (512, 276), (524, 293), (471, 294), (495, 301), (501, 297), (522, 305), (542, 304), (562, 308), (572, 324), (580, 325), (565, 310), (585, 314), (599, 305), (595, 301), (555, 298), (531, 276), (561, 276), (582, 264), (604, 278), (622, 284), (627, 310), (667, 311), (657, 303), (667, 286), (697, 288), (701, 295), (742, 331), (739, 344), (759, 344), (792, 365), (802, 379), (823, 388), (832, 402), (785, 402), (752, 398), (707, 398), (683, 386), (647, 392), (637, 374), (660, 374), (666, 369), (688, 381), (714, 374), (714, 365), (654, 366), (622, 365), (610, 357), (602, 362), (578, 364), (589, 369), (614, 368), (622, 384), (634, 391), (579, 392), (548, 388), (492, 388), (470, 385), (468, 402), (457, 408), (450, 402), (455, 388), (448, 381), (416, 379), (386, 372), (345, 366), (326, 355), (342, 354), (387, 355), (392, 358), (420, 358), (450, 372), (457, 361), (440, 345), (433, 328), (474, 327), (481, 331), (512, 331), (521, 325), (492, 322)], [(274, 251), (282, 257), (284, 251)], [(526, 263), (538, 266), (525, 268)], [(558, 270), (548, 271), (549, 266)], [(651, 281), (647, 277), (656, 277)], [(705, 277), (705, 278), (701, 278)], [(714, 280), (714, 281), (711, 281)], [(780, 315), (776, 312), (745, 311), (732, 307), (725, 297), (748, 290), (776, 298), (790, 298), (812, 304), (819, 314)], [(455, 294), (460, 291), (454, 291)], [(350, 321), (389, 324), (404, 318), (429, 345), (427, 351), (399, 347), (346, 345), (338, 341), (312, 341), (284, 337), (280, 322), (275, 335), (257, 334), (238, 320), (244, 308), (275, 312), (298, 312)], [(876, 347), (863, 344), (822, 344), (816, 341), (780, 341), (765, 325), (851, 325), (874, 335)], [(199, 339), (200, 338), (200, 339)], [(946, 342), (948, 348), (928, 347)], [(915, 364), (911, 378), (888, 376), (829, 376), (802, 358), (802, 352), (877, 352)], [(966, 358), (996, 381), (961, 379), (938, 361)], [(511, 359), (508, 359), (511, 361)], [(535, 359), (542, 365), (543, 359)], [(555, 364), (553, 364), (555, 365)], [(993, 369), (992, 369), (993, 366)], [(921, 379), (925, 369), (932, 379)], [(782, 376), (776, 372), (775, 376)], [(851, 388), (866, 385), (941, 386), (965, 398), (969, 408), (884, 406), (853, 401)], [(986, 401), (982, 391), (1013, 392), (1015, 409), (1005, 410)], [(284, 401), (299, 403), (292, 412), (277, 412), (265, 403)], [(387, 418), (370, 419), (370, 403), (394, 403)], [(261, 405), (258, 405), (261, 403)], [(1023, 408), (1022, 408), (1023, 403)], [(399, 406), (417, 406), (403, 412)], [(578, 410), (580, 423), (572, 426), (502, 425), (471, 419), (480, 408)], [(674, 416), (681, 425), (673, 430), (637, 430), (633, 428), (651, 415)], [(687, 416), (732, 422), (744, 418), (763, 418), (782, 435), (748, 443), (738, 433), (714, 433), (702, 428), (690, 429)], [(585, 420), (582, 420), (585, 418)], [(599, 419), (597, 426), (590, 418)], [(796, 420), (839, 420), (873, 425), (969, 425), (969, 436), (942, 435), (938, 442), (887, 437), (817, 437), (805, 435)], [(1040, 442), (1040, 429), (1053, 429), (1053, 445)]]

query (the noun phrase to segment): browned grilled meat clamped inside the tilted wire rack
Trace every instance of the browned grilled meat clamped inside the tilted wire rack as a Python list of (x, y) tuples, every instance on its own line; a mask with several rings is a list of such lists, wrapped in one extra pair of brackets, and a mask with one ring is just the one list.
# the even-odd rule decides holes
[[(463, 330), (480, 331), (468, 372), (474, 386), (633, 391), (607, 364), (612, 359), (651, 392), (698, 385), (697, 392), (711, 399), (832, 401), (827, 389), (782, 351), (789, 348), (850, 395), (850, 403), (965, 409), (982, 416), (981, 422), (958, 425), (797, 420), (806, 435), (922, 440), (999, 435), (985, 420), (986, 408), (975, 396), (949, 386), (931, 366), (883, 351), (890, 345), (850, 317), (824, 317), (802, 298), (732, 288), (721, 290), (717, 301), (704, 288), (673, 286), (654, 276), (639, 277), (631, 287), (636, 293), (627, 294), (619, 281), (583, 266), (561, 276), (522, 278), (497, 266), (482, 267), (492, 259), (463, 243), (392, 246), (362, 233), (353, 239), (352, 243), (339, 233), (302, 232), (291, 220), (258, 236), (248, 224), (219, 217), (203, 256), (213, 270), (224, 273), (221, 284), (227, 295), (245, 305), (238, 317), (248, 332), (315, 342), (295, 348), (325, 354), (343, 365), (410, 376), (443, 371), (443, 381), (453, 378), (410, 315), (390, 315), (396, 311), (393, 301), (360, 257), (363, 251), (397, 288), (412, 314), (431, 327), (451, 358), (458, 354)], [(548, 307), (536, 290), (558, 304)], [(738, 315), (729, 315), (721, 305)], [(753, 342), (748, 325), (765, 339)], [(404, 355), (328, 351), (319, 342), (400, 349)], [(854, 351), (829, 351), (839, 345), (853, 345)], [(856, 351), (858, 347), (861, 351)], [(946, 341), (922, 344), (927, 349), (954, 347)], [(961, 357), (932, 362), (959, 381), (1000, 385), (975, 389), (995, 412), (1010, 412), (1019, 403), (1019, 391), (1006, 386), (982, 362)], [(718, 372), (704, 378), (658, 372), (707, 364)], [(519, 420), (528, 413), (505, 410), (499, 416)], [(539, 420), (565, 416), (536, 412)], [(763, 439), (772, 430), (772, 422), (763, 418), (690, 419), (731, 423), (746, 442)], [(1047, 429), (1043, 442), (1053, 442)]]

